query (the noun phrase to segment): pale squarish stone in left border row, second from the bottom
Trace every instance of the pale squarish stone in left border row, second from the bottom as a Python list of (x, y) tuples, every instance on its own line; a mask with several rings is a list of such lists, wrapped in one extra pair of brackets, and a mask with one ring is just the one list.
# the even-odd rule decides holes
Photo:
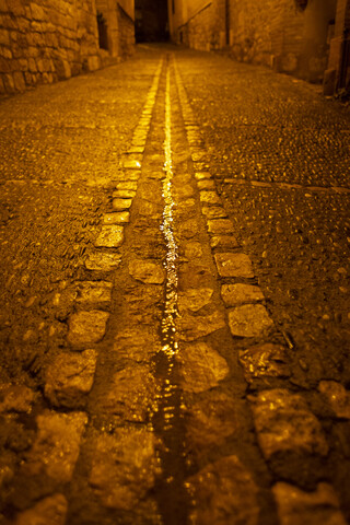
[(46, 474), (58, 483), (71, 480), (88, 423), (84, 412), (55, 413), (45, 410), (36, 418), (37, 436), (23, 464), (28, 475)]

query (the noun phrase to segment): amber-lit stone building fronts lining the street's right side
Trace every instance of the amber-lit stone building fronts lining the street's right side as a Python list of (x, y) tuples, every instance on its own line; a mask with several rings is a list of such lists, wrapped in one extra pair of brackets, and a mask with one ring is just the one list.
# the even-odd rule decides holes
[(195, 49), (226, 48), (325, 93), (349, 84), (350, 0), (168, 0), (171, 37)]

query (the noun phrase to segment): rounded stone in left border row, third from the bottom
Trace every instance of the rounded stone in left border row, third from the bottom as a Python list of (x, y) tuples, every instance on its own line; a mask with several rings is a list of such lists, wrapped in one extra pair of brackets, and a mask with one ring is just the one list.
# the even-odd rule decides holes
[(92, 388), (96, 352), (60, 353), (46, 372), (45, 396), (55, 407), (82, 408)]

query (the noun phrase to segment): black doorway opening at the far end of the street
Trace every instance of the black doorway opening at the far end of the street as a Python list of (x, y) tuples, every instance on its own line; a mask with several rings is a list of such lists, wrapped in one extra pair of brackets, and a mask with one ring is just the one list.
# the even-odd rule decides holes
[(168, 39), (167, 0), (135, 1), (136, 42)]

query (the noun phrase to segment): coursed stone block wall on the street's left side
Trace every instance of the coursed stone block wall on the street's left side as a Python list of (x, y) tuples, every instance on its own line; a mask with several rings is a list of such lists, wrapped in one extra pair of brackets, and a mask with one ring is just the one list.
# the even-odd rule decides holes
[(95, 0), (0, 0), (0, 93), (100, 63)]

